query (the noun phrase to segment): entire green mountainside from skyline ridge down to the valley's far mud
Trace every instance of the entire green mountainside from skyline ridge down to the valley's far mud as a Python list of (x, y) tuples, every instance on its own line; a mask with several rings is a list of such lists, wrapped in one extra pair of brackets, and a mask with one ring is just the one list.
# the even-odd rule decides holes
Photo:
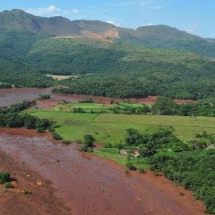
[(0, 84), (47, 87), (54, 81), (46, 74), (79, 74), (61, 83), (71, 87), (66, 93), (208, 98), (215, 95), (215, 62), (201, 55), (214, 53), (214, 40), (168, 26), (132, 30), (22, 10), (0, 13)]

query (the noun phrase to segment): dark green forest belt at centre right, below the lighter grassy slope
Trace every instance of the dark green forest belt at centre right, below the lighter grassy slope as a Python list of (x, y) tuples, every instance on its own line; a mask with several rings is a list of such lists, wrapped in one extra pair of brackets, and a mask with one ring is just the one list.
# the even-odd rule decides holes
[(182, 64), (122, 61), (116, 63), (110, 72), (62, 81), (61, 84), (70, 88), (55, 92), (119, 98), (161, 95), (197, 100), (213, 97), (214, 63), (202, 61), (195, 66), (191, 69)]

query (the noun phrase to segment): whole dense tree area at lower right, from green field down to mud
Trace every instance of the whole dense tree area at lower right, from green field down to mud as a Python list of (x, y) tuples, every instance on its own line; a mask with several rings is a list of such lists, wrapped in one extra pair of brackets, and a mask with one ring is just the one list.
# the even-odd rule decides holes
[[(206, 132), (197, 134), (195, 139), (188, 143), (183, 143), (174, 136), (171, 128), (160, 128), (150, 133), (127, 129), (124, 144), (115, 147), (138, 149), (140, 157), (145, 158), (156, 174), (162, 172), (171, 181), (192, 190), (195, 199), (203, 201), (206, 212), (214, 214), (214, 143), (214, 135), (208, 135)], [(111, 145), (108, 144), (107, 147), (104, 151), (111, 151)], [(112, 149), (111, 153), (114, 153), (116, 148)], [(127, 167), (135, 169), (129, 160)]]

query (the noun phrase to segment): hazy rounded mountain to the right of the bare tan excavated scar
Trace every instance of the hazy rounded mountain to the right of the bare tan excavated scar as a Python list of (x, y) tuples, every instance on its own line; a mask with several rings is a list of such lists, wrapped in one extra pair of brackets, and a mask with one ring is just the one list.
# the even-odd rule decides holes
[(215, 57), (215, 40), (203, 39), (165, 25), (152, 25), (137, 30), (120, 29), (120, 41), (135, 46), (190, 51), (201, 56)]

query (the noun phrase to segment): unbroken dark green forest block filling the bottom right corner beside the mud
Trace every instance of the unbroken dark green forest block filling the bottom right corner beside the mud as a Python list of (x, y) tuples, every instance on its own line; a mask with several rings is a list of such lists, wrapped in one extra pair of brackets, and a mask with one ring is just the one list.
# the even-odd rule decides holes
[(195, 150), (157, 154), (150, 160), (153, 170), (194, 191), (195, 199), (202, 200), (207, 213), (215, 213), (215, 150)]

